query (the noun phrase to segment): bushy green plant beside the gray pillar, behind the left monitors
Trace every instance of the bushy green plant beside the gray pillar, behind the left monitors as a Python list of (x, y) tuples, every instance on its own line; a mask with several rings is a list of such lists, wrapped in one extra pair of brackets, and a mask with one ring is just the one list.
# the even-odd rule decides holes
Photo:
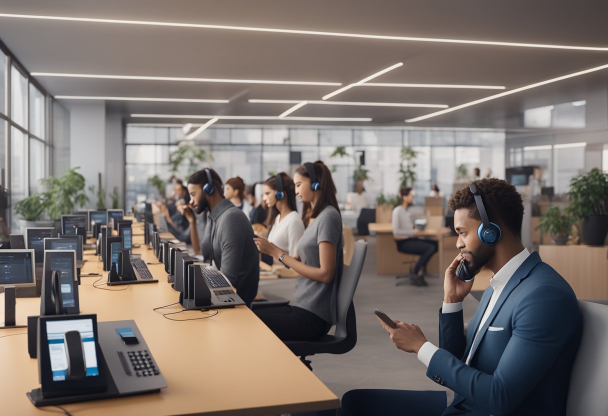
[(46, 186), (43, 196), (51, 220), (59, 221), (61, 214), (70, 214), (89, 200), (85, 194), (85, 177), (76, 172), (79, 168), (66, 169), (58, 178), (40, 179), (40, 183)]

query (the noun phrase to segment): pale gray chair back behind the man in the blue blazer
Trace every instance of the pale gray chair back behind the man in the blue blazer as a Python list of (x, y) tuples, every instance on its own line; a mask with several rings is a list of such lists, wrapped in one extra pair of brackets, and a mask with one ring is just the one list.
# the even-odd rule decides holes
[(566, 415), (608, 415), (608, 305), (579, 300), (578, 306), (582, 336), (570, 376)]

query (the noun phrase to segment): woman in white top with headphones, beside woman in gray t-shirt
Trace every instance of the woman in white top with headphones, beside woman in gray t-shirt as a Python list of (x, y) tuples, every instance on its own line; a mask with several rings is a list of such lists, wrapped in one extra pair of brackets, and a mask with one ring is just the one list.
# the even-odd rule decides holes
[(291, 257), (299, 257), (298, 243), (304, 234), (304, 223), (295, 206), (294, 181), (285, 172), (271, 176), (264, 182), (262, 199), (271, 209), (268, 241)]

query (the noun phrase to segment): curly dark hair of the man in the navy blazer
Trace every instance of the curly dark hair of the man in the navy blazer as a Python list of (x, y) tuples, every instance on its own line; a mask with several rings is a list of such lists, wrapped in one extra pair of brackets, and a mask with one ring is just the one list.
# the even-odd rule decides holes
[[(473, 182), (482, 195), (483, 206), (492, 223), (508, 229), (511, 234), (520, 236), (522, 231), (522, 196), (509, 182), (502, 179), (480, 179)], [(452, 210), (468, 209), (469, 218), (481, 220), (475, 198), (468, 186), (457, 190), (449, 201)]]

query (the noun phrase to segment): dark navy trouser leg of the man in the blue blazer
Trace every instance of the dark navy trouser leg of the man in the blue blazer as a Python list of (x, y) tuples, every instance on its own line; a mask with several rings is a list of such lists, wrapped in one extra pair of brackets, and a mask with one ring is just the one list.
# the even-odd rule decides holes
[(350, 390), (342, 396), (344, 416), (440, 416), (447, 407), (444, 391)]

